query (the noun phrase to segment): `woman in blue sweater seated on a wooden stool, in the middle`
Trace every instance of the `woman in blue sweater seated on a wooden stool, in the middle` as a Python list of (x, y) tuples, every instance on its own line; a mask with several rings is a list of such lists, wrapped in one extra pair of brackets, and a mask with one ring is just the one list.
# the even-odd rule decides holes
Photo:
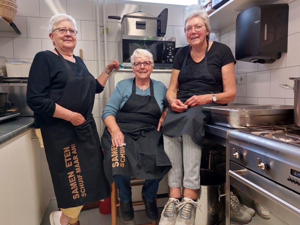
[(104, 150), (104, 170), (110, 184), (119, 189), (122, 220), (134, 218), (130, 179), (146, 179), (142, 189), (146, 217), (158, 219), (156, 194), (158, 184), (170, 170), (164, 152), (161, 124), (167, 114), (166, 86), (150, 79), (153, 56), (144, 49), (131, 55), (134, 78), (117, 83), (103, 110), (107, 126), (101, 137)]

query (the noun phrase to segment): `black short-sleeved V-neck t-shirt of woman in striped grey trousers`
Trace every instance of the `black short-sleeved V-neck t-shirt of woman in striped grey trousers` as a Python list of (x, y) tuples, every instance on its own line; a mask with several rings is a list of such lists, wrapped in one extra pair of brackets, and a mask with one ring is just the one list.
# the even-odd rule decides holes
[[(184, 61), (184, 57), (189, 49), (190, 45), (184, 46), (178, 50), (175, 55), (173, 62), (173, 69), (180, 70)], [(203, 61), (203, 60), (202, 60)], [(195, 62), (190, 54), (187, 56), (186, 66), (197, 65), (200, 62)], [(221, 68), (228, 64), (234, 62), (236, 63), (235, 58), (231, 52), (231, 49), (222, 43), (214, 41), (211, 45), (211, 48), (207, 52), (207, 64), (208, 68), (211, 71), (211, 74), (214, 76), (217, 84), (222, 84), (222, 73)]]

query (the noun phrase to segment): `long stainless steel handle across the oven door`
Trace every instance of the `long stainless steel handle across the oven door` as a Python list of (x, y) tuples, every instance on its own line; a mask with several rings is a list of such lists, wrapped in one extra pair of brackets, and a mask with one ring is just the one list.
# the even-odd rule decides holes
[(283, 206), (287, 210), (295, 213), (296, 215), (300, 214), (300, 210), (298, 208), (296, 208), (295, 206), (289, 204), (288, 202), (284, 201), (281, 198), (278, 198), (274, 194), (268, 192), (267, 190), (259, 187), (258, 185), (254, 184), (253, 182), (245, 179), (244, 177), (242, 177), (238, 174), (238, 173), (242, 173), (243, 171), (245, 171), (245, 170), (236, 170), (236, 171), (229, 170), (228, 174), (229, 174), (229, 176), (232, 176), (233, 178), (237, 179), (239, 182), (247, 185), (248, 187), (252, 188), (253, 190), (259, 192), (260, 194), (268, 197), (269, 199), (273, 200), (277, 204)]

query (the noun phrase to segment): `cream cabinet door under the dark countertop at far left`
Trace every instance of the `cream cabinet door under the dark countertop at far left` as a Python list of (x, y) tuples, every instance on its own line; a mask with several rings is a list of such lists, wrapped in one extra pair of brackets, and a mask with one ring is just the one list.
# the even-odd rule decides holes
[(41, 150), (30, 129), (9, 140), (11, 211), (13, 225), (38, 225), (43, 219)]

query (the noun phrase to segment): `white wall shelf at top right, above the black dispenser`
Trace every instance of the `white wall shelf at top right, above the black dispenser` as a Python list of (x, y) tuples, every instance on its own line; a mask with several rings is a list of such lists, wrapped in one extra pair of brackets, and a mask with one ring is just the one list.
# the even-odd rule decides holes
[(242, 11), (253, 5), (273, 4), (278, 0), (230, 0), (209, 14), (212, 31), (220, 31), (234, 24), (236, 17)]

